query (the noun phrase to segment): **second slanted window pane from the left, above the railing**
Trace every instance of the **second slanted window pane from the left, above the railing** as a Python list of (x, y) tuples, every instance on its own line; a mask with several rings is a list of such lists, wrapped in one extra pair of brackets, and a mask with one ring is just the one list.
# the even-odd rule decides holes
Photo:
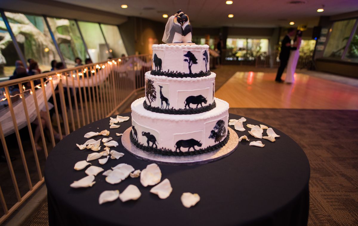
[(66, 60), (67, 67), (76, 66), (75, 58), (77, 57), (84, 64), (88, 54), (77, 29), (76, 21), (59, 18), (47, 18), (47, 20)]

